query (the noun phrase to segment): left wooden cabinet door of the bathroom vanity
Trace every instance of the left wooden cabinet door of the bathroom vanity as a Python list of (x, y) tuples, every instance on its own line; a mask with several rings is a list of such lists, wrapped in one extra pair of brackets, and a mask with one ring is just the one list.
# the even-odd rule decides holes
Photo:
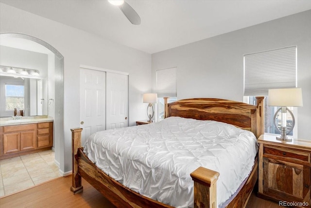
[(3, 134), (3, 154), (13, 153), (20, 150), (20, 134), (4, 133)]

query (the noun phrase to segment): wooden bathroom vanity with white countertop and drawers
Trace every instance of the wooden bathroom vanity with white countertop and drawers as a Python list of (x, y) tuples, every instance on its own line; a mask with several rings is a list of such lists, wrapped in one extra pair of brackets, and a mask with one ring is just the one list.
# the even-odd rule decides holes
[(0, 120), (0, 159), (51, 150), (53, 119), (47, 116)]

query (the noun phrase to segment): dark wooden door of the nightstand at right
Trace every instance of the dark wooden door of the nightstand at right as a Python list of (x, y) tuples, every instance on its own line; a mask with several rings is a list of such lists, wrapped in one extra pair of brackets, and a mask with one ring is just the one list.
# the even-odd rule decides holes
[(310, 167), (266, 157), (263, 165), (263, 193), (310, 205)]

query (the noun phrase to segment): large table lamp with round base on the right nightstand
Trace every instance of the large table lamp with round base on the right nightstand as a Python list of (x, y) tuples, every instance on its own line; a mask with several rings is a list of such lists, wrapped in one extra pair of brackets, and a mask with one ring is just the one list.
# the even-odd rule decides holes
[[(283, 89), (270, 89), (268, 91), (268, 105), (281, 107), (281, 136), (276, 137), (278, 140), (292, 141), (291, 137), (286, 135), (286, 111), (290, 111), (286, 107), (300, 107), (302, 106), (302, 92), (301, 88), (283, 88)], [(277, 113), (278, 111), (276, 111)], [(292, 113), (291, 113), (292, 114)], [(294, 127), (293, 116), (293, 127)], [(276, 128), (278, 128), (276, 126)]]

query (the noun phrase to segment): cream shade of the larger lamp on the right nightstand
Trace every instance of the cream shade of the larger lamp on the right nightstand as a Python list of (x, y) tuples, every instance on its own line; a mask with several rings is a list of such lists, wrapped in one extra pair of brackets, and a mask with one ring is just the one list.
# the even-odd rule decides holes
[(301, 88), (271, 89), (268, 91), (268, 105), (279, 107), (301, 107)]

